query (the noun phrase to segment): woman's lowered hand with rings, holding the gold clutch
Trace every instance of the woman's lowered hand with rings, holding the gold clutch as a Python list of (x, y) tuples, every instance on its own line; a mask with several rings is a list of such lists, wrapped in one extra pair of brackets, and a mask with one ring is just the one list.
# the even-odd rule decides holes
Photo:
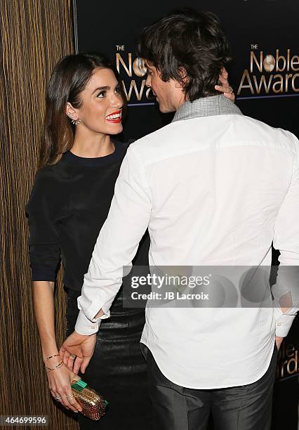
[[(54, 367), (55, 364), (57, 363), (47, 363), (47, 366)], [(59, 401), (65, 408), (73, 412), (81, 412), (82, 408), (77, 400), (75, 400), (71, 387), (71, 382), (74, 379), (78, 380), (80, 378), (65, 365), (47, 372), (47, 377), (53, 398)]]

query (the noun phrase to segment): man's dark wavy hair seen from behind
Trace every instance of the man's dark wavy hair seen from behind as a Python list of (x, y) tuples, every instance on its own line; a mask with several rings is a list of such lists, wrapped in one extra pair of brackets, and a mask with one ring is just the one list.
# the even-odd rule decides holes
[[(214, 86), (221, 67), (230, 61), (229, 44), (218, 17), (189, 8), (145, 27), (138, 41), (138, 56), (156, 67), (164, 82), (178, 81), (191, 102), (218, 94)], [(182, 68), (187, 72), (185, 79)]]

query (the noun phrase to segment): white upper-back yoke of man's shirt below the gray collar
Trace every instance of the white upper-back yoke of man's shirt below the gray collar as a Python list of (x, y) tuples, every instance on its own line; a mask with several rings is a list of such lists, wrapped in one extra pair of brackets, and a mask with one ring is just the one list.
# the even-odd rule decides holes
[(246, 115), (195, 117), (170, 124), (131, 143), (145, 164), (210, 146), (260, 145), (299, 152), (298, 139)]

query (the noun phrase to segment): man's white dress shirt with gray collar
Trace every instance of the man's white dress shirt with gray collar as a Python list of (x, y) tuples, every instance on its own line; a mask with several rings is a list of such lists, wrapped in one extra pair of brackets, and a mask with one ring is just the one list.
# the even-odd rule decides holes
[[(98, 330), (148, 228), (151, 266), (299, 263), (298, 140), (241, 115), (224, 96), (184, 103), (173, 122), (128, 148), (78, 299), (75, 330)], [(279, 282), (277, 282), (279, 284)], [(280, 282), (281, 287), (281, 282)], [(281, 289), (282, 291), (284, 288)], [(298, 297), (270, 308), (147, 307), (142, 343), (175, 384), (251, 384), (286, 336)], [(282, 295), (281, 293), (280, 295)]]

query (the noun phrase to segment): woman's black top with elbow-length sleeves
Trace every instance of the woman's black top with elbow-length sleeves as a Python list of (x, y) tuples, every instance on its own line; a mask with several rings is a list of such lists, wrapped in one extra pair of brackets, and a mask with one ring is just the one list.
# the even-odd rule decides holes
[[(36, 174), (26, 207), (32, 280), (55, 281), (61, 256), (65, 287), (81, 291), (128, 144), (114, 146), (105, 157), (66, 152)], [(146, 250), (138, 264), (147, 264)]]

